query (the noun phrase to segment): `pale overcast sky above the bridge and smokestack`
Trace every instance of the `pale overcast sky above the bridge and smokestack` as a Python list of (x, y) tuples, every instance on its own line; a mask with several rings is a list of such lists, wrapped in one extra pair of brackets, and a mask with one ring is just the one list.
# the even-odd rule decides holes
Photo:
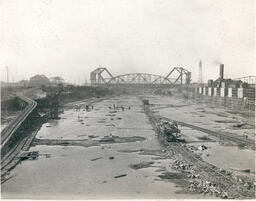
[(166, 75), (175, 66), (198, 80), (255, 75), (254, 0), (0, 0), (1, 80), (35, 74), (89, 80)]

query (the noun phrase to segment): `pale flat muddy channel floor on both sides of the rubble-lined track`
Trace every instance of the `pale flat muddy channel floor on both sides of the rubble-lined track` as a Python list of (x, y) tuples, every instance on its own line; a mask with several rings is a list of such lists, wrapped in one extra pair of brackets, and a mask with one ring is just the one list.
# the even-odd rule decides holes
[[(208, 111), (175, 97), (147, 98), (158, 114), (212, 129), (227, 127), (216, 120), (241, 121), (239, 116), (218, 116), (226, 115), (224, 110)], [(205, 110), (210, 117), (202, 114)], [(159, 142), (138, 97), (114, 97), (93, 104), (89, 110), (80, 102), (60, 117), (41, 127), (30, 148), (39, 151), (39, 157), (24, 160), (11, 171), (10, 179), (2, 184), (3, 198), (215, 198), (183, 191), (186, 178), (172, 168), (172, 156)], [(254, 151), (222, 145), (198, 131), (181, 130), (189, 146), (208, 147), (196, 150), (207, 162), (236, 169), (237, 174), (240, 169), (250, 169), (254, 175)], [(251, 137), (252, 130), (246, 132)]]

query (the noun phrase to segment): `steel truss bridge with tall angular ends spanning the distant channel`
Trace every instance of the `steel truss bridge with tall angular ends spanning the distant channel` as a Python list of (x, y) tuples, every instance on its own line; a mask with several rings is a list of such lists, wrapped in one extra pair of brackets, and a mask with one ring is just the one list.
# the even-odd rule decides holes
[(131, 73), (113, 76), (107, 68), (97, 68), (90, 74), (92, 86), (98, 85), (153, 85), (153, 86), (176, 86), (188, 85), (191, 81), (191, 72), (182, 68), (174, 67), (166, 76), (148, 73)]

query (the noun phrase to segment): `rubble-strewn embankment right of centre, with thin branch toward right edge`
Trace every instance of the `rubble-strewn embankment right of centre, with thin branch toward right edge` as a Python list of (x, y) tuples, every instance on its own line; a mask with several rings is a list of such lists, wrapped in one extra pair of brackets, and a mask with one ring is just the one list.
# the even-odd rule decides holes
[[(183, 188), (182, 193), (209, 194), (224, 199), (251, 199), (255, 198), (254, 179), (244, 174), (226, 170), (205, 161), (197, 152), (197, 148), (184, 142), (168, 142), (166, 136), (159, 132), (158, 122), (160, 119), (171, 121), (168, 118), (156, 115), (150, 105), (144, 105), (145, 114), (158, 134), (159, 141), (166, 147), (165, 152), (172, 159), (170, 164), (173, 172), (163, 172), (160, 178), (175, 182)], [(177, 121), (183, 129), (198, 130), (202, 133), (221, 137), (220, 141), (228, 140), (242, 143), (243, 146), (252, 146), (254, 143), (240, 136), (218, 133), (209, 129), (193, 126), (185, 122)], [(192, 130), (191, 130), (192, 132)], [(204, 146), (206, 149), (207, 147)], [(176, 180), (174, 179), (176, 178)]]

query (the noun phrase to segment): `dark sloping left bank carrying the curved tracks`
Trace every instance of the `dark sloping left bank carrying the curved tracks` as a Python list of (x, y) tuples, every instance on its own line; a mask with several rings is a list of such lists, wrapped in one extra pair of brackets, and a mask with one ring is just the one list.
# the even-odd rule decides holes
[[(38, 95), (38, 90), (30, 92), (29, 97), (37, 97), (36, 101), (24, 95), (18, 95), (14, 98), (13, 102), (9, 103), (10, 106), (19, 108), (19, 114), (12, 119), (11, 122), (1, 132), (1, 180), (2, 183), (9, 179), (8, 175), (21, 160), (19, 154), (26, 152), (32, 145), (35, 136), (45, 122), (50, 118), (50, 102), (51, 97)], [(102, 93), (101, 93), (102, 92)], [(45, 93), (45, 92), (44, 92)], [(49, 93), (49, 91), (48, 91)], [(112, 94), (112, 93), (107, 93)], [(61, 97), (61, 104), (58, 107), (69, 107), (76, 105), (79, 101), (86, 100), (88, 105), (102, 101), (109, 98), (102, 90), (96, 89), (91, 94), (85, 96), (82, 89), (64, 93)], [(27, 95), (27, 94), (26, 94)], [(39, 97), (39, 98), (38, 98)], [(89, 98), (90, 97), (90, 98)], [(9, 100), (10, 101), (10, 100)], [(58, 112), (61, 112), (59, 110)]]

